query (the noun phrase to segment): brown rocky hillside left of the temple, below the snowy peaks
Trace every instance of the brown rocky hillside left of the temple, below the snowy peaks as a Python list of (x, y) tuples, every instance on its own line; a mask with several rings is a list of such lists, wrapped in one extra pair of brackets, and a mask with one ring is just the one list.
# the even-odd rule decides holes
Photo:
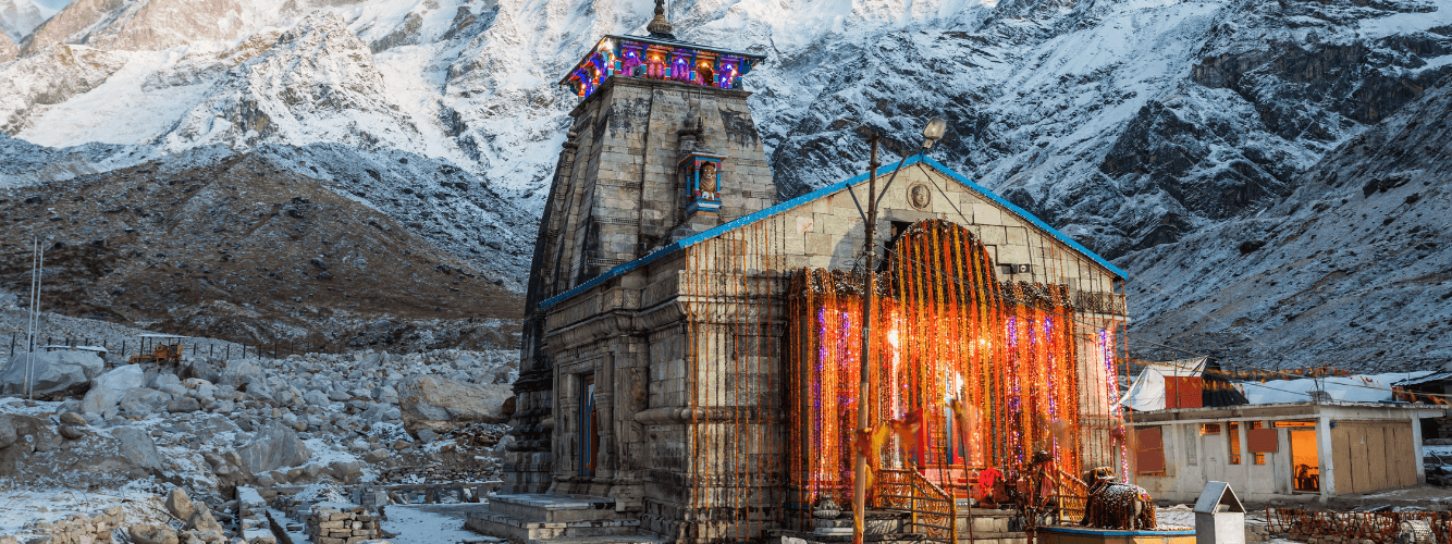
[(3, 287), (28, 292), (41, 238), (42, 308), (65, 315), (328, 351), (514, 345), (520, 302), (505, 279), (420, 236), (437, 226), (417, 202), (433, 194), (411, 199), (405, 226), (379, 210), (402, 205), (289, 170), (319, 157), (192, 157), (10, 190)]

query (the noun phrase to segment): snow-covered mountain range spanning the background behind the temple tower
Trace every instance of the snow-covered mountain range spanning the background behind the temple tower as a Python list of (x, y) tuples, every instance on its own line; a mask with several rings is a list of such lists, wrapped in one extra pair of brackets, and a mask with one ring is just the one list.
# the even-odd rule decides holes
[[(578, 103), (558, 78), (600, 35), (643, 32), (652, 6), (76, 0), (16, 59), (0, 38), (0, 131), (65, 157), (0, 183), (202, 148), (330, 149), (452, 168), (369, 168), (363, 199), (468, 176), (537, 215)], [(746, 88), (783, 196), (862, 170), (861, 129), (908, 149), (942, 115), (935, 158), (1137, 255), (1135, 274), (1157, 265), (1144, 251), (1294, 191), (1452, 73), (1452, 0), (684, 0), (671, 19), (682, 39), (767, 55)], [(462, 232), (425, 238), (476, 250)], [(523, 254), (530, 236), (499, 239)]]

